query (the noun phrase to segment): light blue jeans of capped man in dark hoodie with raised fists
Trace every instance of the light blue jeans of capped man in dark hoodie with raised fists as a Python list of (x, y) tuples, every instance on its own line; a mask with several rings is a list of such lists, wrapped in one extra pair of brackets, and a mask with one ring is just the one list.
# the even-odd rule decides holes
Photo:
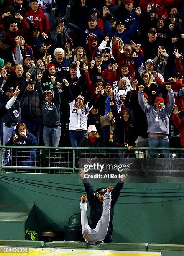
[(48, 127), (43, 128), (43, 141), (46, 147), (58, 147), (61, 136), (61, 127)]

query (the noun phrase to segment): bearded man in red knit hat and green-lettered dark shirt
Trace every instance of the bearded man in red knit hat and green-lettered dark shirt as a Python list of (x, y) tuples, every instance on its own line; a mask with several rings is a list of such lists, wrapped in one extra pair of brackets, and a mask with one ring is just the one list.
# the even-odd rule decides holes
[(43, 77), (41, 78), (41, 87), (43, 91), (53, 90), (53, 83), (51, 76), (55, 77), (54, 82), (58, 89), (61, 89), (62, 79), (59, 78), (56, 74), (56, 67), (53, 63), (49, 63), (46, 67)]

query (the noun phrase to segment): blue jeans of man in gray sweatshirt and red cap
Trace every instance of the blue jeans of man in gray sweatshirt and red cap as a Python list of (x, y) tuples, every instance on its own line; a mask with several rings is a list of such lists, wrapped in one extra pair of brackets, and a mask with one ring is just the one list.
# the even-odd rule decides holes
[[(150, 148), (169, 148), (168, 136), (163, 137), (148, 137), (148, 146)], [(158, 158), (158, 153), (161, 154), (162, 158), (170, 158), (170, 150), (150, 150), (149, 158)]]

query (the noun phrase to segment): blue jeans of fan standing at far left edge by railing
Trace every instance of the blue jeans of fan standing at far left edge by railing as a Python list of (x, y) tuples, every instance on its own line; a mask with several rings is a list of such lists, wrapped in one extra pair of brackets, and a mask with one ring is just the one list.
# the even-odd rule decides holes
[[(11, 136), (15, 135), (15, 128), (16, 128), (16, 125), (11, 125), (11, 127), (7, 127), (3, 123), (3, 145), (6, 145), (6, 143), (10, 140)], [(10, 150), (3, 148), (3, 165), (7, 165), (9, 161), (10, 161)]]

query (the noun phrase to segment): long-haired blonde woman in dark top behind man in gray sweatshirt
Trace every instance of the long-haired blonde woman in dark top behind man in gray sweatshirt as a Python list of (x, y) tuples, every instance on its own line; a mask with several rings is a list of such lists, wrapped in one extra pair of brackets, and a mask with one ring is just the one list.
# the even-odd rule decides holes
[(143, 85), (145, 87), (144, 92), (148, 95), (150, 104), (154, 105), (154, 100), (158, 96), (158, 90), (156, 84), (153, 82), (153, 77), (150, 71), (145, 70), (142, 75)]

